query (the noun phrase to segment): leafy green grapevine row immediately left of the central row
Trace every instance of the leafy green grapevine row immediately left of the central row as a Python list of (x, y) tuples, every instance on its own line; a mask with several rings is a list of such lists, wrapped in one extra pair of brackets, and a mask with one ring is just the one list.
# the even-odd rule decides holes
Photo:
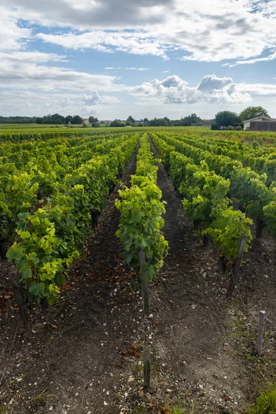
[(54, 303), (66, 269), (79, 257), (93, 215), (101, 210), (139, 135), (121, 139), (106, 155), (95, 155), (66, 175), (55, 192), (33, 213), (19, 213), (17, 242), (8, 250), (28, 301)]

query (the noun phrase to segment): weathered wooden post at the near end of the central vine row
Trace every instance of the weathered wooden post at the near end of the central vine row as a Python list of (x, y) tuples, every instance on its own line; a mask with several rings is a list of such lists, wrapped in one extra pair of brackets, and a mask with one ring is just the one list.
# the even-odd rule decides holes
[(148, 298), (148, 280), (144, 274), (144, 264), (146, 263), (146, 257), (143, 250), (139, 251), (139, 265), (140, 265), (140, 279), (141, 279), (141, 291), (144, 308), (144, 388), (150, 388), (150, 350), (147, 345), (146, 328), (145, 328), (145, 316), (150, 313), (150, 301)]

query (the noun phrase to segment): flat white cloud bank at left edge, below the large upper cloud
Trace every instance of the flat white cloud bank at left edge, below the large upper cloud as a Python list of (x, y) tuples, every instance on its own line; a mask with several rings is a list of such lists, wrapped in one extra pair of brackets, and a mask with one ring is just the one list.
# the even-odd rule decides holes
[(91, 75), (51, 63), (64, 62), (64, 57), (52, 53), (13, 52), (0, 53), (0, 88), (19, 88), (42, 91), (108, 90), (129, 88), (115, 83), (110, 75)]

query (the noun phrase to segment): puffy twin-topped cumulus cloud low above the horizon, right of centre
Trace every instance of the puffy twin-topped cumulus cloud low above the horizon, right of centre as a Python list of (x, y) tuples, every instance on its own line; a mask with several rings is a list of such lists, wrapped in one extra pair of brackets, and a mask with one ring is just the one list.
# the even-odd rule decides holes
[(188, 82), (172, 75), (162, 81), (155, 79), (144, 82), (132, 93), (162, 99), (164, 103), (246, 103), (251, 100), (248, 92), (239, 90), (233, 79), (215, 75), (206, 75), (195, 87), (188, 86)]

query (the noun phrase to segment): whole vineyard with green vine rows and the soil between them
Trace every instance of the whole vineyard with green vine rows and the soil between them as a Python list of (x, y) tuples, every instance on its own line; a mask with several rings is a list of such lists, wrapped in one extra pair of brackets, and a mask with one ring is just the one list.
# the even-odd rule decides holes
[(275, 386), (275, 145), (1, 131), (0, 413), (253, 413)]

